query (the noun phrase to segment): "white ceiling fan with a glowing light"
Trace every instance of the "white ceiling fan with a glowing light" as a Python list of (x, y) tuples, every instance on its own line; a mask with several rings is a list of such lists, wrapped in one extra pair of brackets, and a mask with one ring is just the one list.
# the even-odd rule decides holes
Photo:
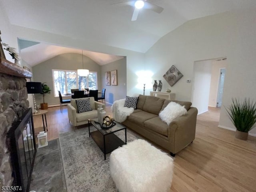
[(164, 10), (164, 8), (160, 6), (147, 2), (147, 0), (134, 0), (134, 1), (128, 1), (128, 2), (121, 2), (121, 3), (115, 3), (115, 5), (118, 5), (118, 6), (129, 5), (134, 7), (134, 11), (132, 14), (132, 21), (137, 20), (138, 14), (142, 8), (152, 10), (156, 13), (161, 13)]

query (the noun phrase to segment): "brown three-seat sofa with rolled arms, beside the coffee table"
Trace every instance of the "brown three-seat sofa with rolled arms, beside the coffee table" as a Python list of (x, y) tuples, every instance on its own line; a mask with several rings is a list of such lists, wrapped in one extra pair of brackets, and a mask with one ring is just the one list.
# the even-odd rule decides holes
[(128, 128), (170, 151), (172, 156), (188, 146), (195, 139), (197, 108), (191, 102), (177, 102), (185, 106), (188, 113), (174, 119), (168, 126), (158, 114), (170, 100), (154, 96), (139, 95), (137, 109), (122, 122)]

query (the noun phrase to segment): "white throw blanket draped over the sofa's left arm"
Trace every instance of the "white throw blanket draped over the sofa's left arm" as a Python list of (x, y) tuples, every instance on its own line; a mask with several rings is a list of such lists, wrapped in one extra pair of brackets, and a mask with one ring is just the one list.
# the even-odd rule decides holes
[(125, 100), (126, 99), (116, 100), (111, 106), (113, 118), (116, 122), (124, 122), (126, 118), (134, 111), (134, 108), (124, 107)]

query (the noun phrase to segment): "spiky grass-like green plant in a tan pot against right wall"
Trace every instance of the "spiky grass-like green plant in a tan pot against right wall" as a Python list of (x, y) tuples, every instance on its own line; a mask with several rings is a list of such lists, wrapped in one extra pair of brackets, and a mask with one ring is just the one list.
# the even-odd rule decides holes
[(232, 98), (232, 104), (226, 110), (236, 127), (236, 138), (247, 140), (248, 132), (256, 126), (256, 102), (245, 98), (244, 102), (240, 103)]

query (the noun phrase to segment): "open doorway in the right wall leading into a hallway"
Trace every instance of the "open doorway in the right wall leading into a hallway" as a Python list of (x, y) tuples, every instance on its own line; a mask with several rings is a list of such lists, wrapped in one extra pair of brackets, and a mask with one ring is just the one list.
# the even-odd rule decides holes
[(207, 112), (208, 107), (221, 106), (226, 64), (226, 58), (194, 62), (191, 101), (198, 114)]

